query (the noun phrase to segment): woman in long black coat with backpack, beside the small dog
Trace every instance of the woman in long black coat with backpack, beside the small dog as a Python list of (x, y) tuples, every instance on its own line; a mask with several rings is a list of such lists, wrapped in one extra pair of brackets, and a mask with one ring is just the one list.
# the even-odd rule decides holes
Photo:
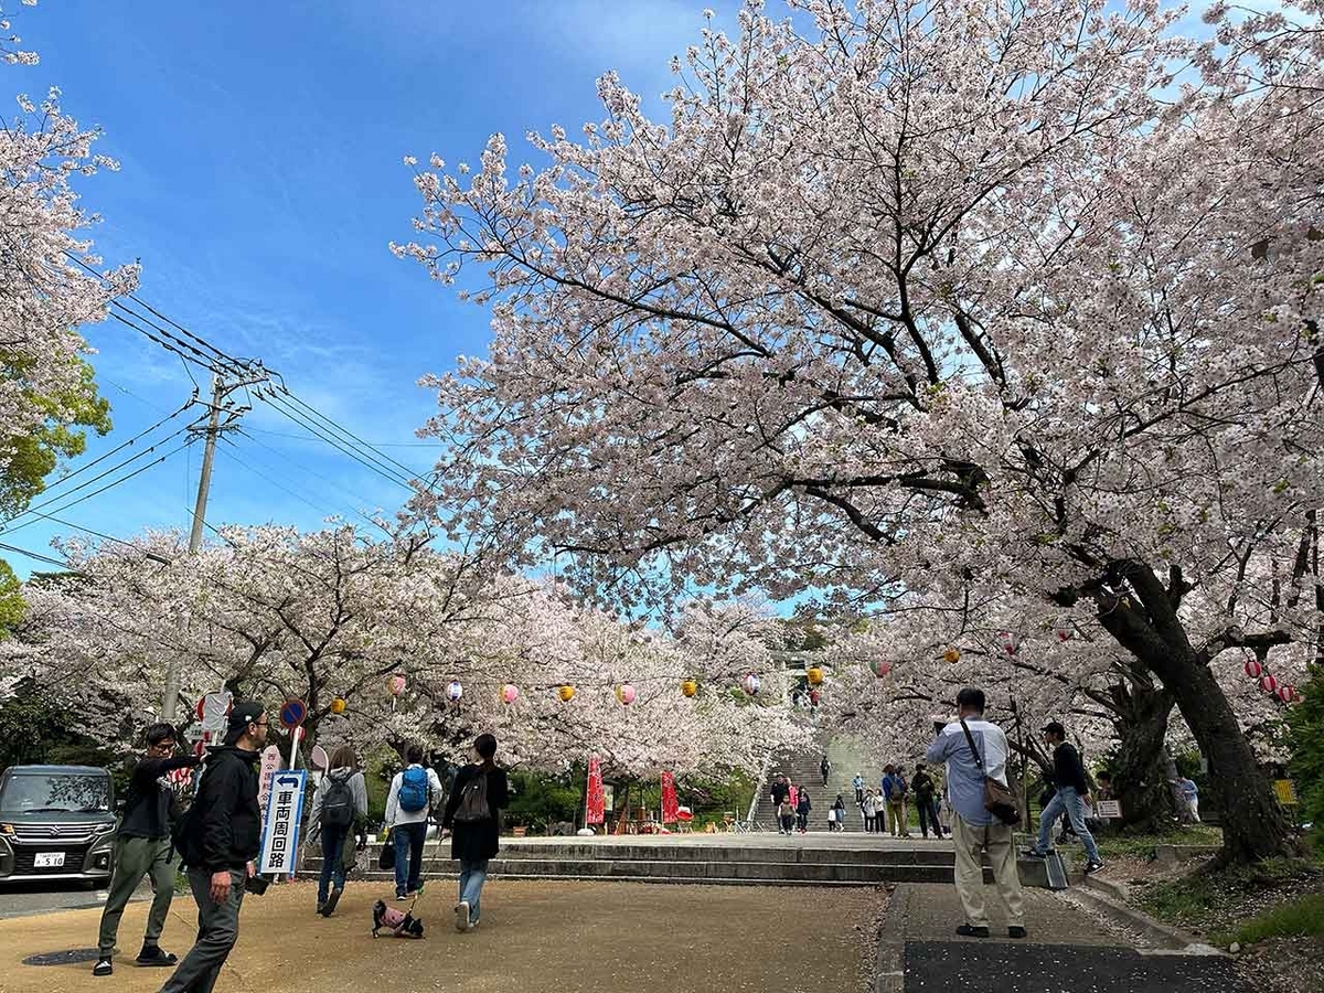
[(487, 862), (496, 857), (499, 812), (510, 794), (506, 771), (496, 767), (496, 739), (479, 735), (474, 763), (455, 773), (455, 782), (441, 818), (442, 837), (450, 833), (450, 857), (459, 862), (459, 903), (455, 929), (478, 924), (478, 902), (487, 879)]

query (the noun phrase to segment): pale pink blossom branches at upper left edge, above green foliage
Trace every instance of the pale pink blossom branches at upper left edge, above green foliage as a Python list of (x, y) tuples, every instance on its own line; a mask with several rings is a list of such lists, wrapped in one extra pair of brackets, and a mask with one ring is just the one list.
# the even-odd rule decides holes
[[(0, 9), (0, 32), (9, 30)], [(0, 42), (0, 58), (37, 61), (16, 36)], [(17, 113), (0, 118), (0, 294), (7, 303), (0, 318), (0, 493), (9, 489), (7, 470), (33, 432), (94, 422), (86, 420), (87, 408), (99, 399), (78, 327), (101, 320), (109, 302), (138, 279), (136, 266), (98, 274), (101, 260), (83, 234), (97, 217), (79, 207), (74, 180), (118, 168), (93, 152), (98, 132), (61, 111), (57, 89), (40, 102), (20, 95), (17, 105)], [(68, 448), (46, 446), (52, 453)]]

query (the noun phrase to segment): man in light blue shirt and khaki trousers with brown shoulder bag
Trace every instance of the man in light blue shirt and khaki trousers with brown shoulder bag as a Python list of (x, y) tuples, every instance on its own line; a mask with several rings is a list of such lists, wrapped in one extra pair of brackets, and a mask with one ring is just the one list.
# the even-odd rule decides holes
[[(1012, 826), (996, 821), (984, 806), (984, 780), (1006, 785), (1006, 735), (984, 719), (984, 691), (968, 686), (956, 695), (957, 719), (943, 726), (924, 757), (947, 764), (947, 789), (952, 804), (952, 838), (956, 842), (956, 891), (965, 923), (956, 933), (988, 937), (989, 919), (984, 902), (981, 853), (993, 869), (993, 888), (1006, 910), (1009, 937), (1025, 937), (1025, 900), (1016, 869)], [(978, 759), (970, 749), (978, 749)]]

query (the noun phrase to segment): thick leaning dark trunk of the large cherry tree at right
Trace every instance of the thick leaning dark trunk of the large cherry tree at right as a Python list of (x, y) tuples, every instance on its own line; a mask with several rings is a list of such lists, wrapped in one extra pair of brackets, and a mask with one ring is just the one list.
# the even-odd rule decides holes
[[(1116, 592), (1119, 581), (1135, 591), (1139, 605)], [(1218, 780), (1223, 861), (1245, 863), (1292, 854), (1287, 818), (1272, 786), (1177, 617), (1180, 573), (1174, 569), (1173, 583), (1165, 588), (1144, 563), (1119, 561), (1110, 567), (1107, 583), (1111, 591), (1103, 587), (1092, 593), (1100, 624), (1172, 694), (1209, 761), (1210, 777)]]

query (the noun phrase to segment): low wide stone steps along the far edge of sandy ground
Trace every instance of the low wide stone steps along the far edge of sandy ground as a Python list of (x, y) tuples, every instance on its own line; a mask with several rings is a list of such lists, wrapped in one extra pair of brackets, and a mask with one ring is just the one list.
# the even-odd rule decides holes
[[(854, 772), (851, 773), (854, 775)], [(820, 782), (822, 777), (820, 777)], [(822, 842), (825, 834), (817, 835)], [(878, 886), (882, 883), (951, 883), (953, 853), (940, 842), (884, 846), (870, 838), (835, 835), (841, 845), (805, 843), (777, 835), (691, 835), (688, 838), (503, 838), (490, 873), (502, 879), (621, 880), (637, 883), (707, 883), (722, 886)], [(356, 878), (388, 887), (389, 871), (376, 867)], [(424, 854), (428, 879), (454, 879), (450, 843), (429, 843)], [(305, 876), (315, 876), (320, 858), (308, 859)]]

